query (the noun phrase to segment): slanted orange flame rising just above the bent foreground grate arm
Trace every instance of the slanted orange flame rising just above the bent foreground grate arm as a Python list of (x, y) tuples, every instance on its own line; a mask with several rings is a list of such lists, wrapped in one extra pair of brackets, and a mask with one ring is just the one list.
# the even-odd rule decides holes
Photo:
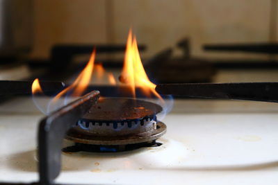
[(72, 85), (70, 85), (66, 89), (63, 89), (63, 91), (60, 91), (60, 93), (57, 94), (51, 101), (58, 100), (61, 96), (64, 96), (70, 90), (73, 90), (72, 96), (81, 96), (83, 94), (83, 91), (85, 91), (90, 82), (92, 76), (92, 69), (94, 69), (94, 63), (95, 49), (94, 51), (92, 51), (92, 55), (90, 56), (88, 64), (86, 64), (85, 68), (83, 69), (83, 71), (81, 71), (76, 80), (74, 80)]

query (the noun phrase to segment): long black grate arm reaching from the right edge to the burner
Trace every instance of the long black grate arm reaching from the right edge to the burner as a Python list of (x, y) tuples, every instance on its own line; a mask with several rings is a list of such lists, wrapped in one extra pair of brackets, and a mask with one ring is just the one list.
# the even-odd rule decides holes
[(278, 103), (278, 82), (161, 84), (161, 94), (191, 98), (255, 100)]

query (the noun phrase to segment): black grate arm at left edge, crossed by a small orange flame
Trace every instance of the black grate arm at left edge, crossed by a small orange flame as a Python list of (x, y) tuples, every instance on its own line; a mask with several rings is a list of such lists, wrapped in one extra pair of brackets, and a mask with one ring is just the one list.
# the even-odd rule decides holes
[[(0, 96), (14, 94), (31, 94), (33, 81), (0, 80)], [(62, 89), (63, 82), (41, 81), (40, 86), (46, 93), (54, 93)]]

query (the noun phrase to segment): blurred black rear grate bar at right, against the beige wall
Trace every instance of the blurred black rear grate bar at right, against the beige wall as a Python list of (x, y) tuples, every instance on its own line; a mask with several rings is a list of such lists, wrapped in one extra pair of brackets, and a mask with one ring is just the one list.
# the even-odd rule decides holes
[(276, 43), (254, 43), (254, 44), (205, 44), (205, 51), (241, 51), (248, 53), (277, 54), (278, 44)]

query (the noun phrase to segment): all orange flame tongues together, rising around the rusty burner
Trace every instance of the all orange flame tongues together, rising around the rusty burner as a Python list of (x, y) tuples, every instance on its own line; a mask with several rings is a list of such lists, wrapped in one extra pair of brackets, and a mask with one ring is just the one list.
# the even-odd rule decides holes
[[(85, 68), (79, 76), (74, 80), (72, 85), (60, 91), (49, 103), (50, 106), (47, 107), (47, 112), (51, 110), (53, 107), (53, 103), (57, 103), (56, 101), (59, 100), (62, 96), (67, 94), (67, 92), (71, 91), (71, 96), (81, 96), (85, 89), (88, 87), (88, 84), (92, 78), (93, 69), (95, 67), (95, 73), (97, 75), (97, 80), (101, 80), (104, 76), (108, 78), (108, 81), (111, 85), (116, 85), (116, 80), (112, 73), (106, 73), (102, 64), (95, 64), (95, 49), (92, 51), (92, 55), (90, 56), (90, 60), (88, 64), (86, 64)], [(147, 74), (145, 73), (145, 69), (142, 65), (140, 59), (140, 53), (138, 51), (136, 37), (133, 36), (131, 30), (129, 30), (129, 36), (126, 42), (126, 53), (124, 56), (124, 67), (122, 69), (122, 74), (120, 76), (120, 81), (124, 82), (128, 85), (131, 89), (133, 97), (136, 97), (136, 87), (142, 89), (142, 92), (150, 97), (155, 95), (158, 97), (162, 103), (164, 103), (161, 96), (156, 92), (155, 87), (156, 85), (152, 83)], [(38, 79), (35, 79), (32, 85), (32, 93), (43, 93), (42, 89), (40, 88), (40, 84)], [(56, 106), (56, 104), (54, 104)], [(55, 107), (54, 106), (54, 107)]]

